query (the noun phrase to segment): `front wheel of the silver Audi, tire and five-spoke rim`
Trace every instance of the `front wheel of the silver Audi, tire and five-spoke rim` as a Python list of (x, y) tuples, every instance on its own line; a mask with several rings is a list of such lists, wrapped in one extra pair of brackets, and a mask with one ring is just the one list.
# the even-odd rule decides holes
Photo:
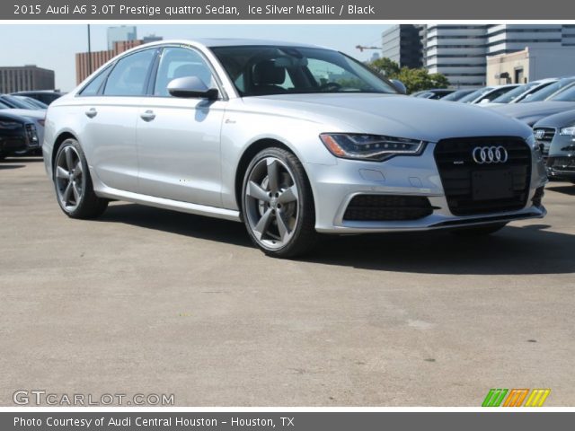
[(242, 217), (252, 242), (274, 258), (295, 258), (317, 242), (314, 197), (302, 163), (277, 147), (256, 154), (242, 186)]

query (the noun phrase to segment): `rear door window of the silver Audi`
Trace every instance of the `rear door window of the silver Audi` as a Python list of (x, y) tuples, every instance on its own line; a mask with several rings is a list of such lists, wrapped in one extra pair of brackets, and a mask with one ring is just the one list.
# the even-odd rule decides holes
[(155, 49), (146, 49), (119, 59), (108, 75), (104, 95), (141, 96), (146, 94), (146, 76), (154, 56)]

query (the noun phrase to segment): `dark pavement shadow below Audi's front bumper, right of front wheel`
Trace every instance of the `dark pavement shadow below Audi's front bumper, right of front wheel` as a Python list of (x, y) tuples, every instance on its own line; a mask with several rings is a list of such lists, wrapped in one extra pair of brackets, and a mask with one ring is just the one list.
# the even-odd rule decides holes
[(548, 224), (510, 225), (484, 237), (386, 233), (324, 240), (308, 260), (418, 274), (521, 275), (575, 272), (575, 235)]

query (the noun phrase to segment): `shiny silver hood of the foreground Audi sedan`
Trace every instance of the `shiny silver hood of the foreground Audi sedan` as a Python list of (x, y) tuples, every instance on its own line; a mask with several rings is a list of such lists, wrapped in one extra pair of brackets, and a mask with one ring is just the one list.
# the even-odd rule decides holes
[(387, 94), (280, 94), (243, 98), (247, 110), (323, 123), (325, 132), (367, 133), (437, 142), (448, 137), (521, 136), (531, 130), (492, 110)]

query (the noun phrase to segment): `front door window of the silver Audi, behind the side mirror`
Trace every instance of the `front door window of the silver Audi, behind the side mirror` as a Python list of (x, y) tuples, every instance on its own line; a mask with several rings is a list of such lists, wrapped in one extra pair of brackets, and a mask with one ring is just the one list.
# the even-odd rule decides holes
[(215, 87), (212, 71), (198, 52), (188, 48), (164, 48), (155, 79), (155, 96), (169, 96), (168, 84), (184, 76), (198, 76), (209, 88)]

